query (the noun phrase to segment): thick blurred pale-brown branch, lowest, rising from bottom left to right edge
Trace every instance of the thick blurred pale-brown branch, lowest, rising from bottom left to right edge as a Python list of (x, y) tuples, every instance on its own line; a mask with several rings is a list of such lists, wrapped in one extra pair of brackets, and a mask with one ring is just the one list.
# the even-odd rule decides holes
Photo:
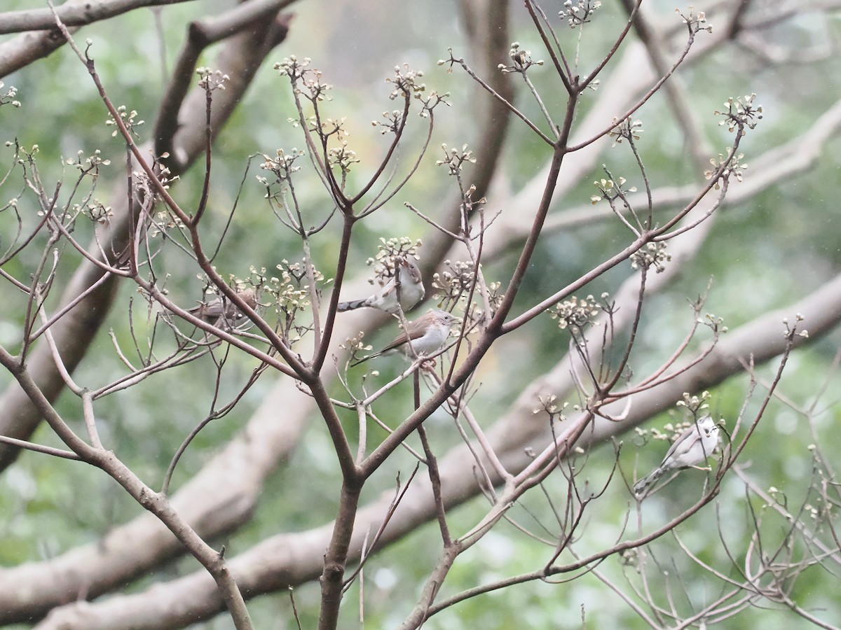
[[(651, 287), (649, 286), (649, 291)], [(741, 371), (742, 363), (740, 357), (747, 357), (753, 354), (758, 363), (770, 360), (785, 349), (785, 339), (780, 334), (782, 330), (781, 320), (786, 312), (803, 312), (807, 316), (805, 322), (809, 329), (809, 341), (815, 341), (822, 335), (831, 331), (841, 320), (841, 277), (828, 283), (821, 290), (816, 291), (812, 296), (803, 299), (801, 302), (792, 304), (791, 307), (781, 312), (765, 314), (752, 322), (744, 324), (741, 328), (733, 330), (727, 337), (717, 345), (708, 360), (696, 368), (685, 372), (678, 379), (670, 381), (669, 384), (646, 391), (634, 397), (634, 403), (627, 420), (624, 423), (610, 423), (607, 421), (595, 423), (592, 433), (588, 433), (582, 444), (584, 448), (603, 442), (617, 434), (627, 431), (632, 426), (642, 423), (654, 413), (670, 407), (675, 401), (680, 400), (685, 391), (701, 391), (725, 381), (730, 375)], [(800, 343), (805, 343), (801, 341)], [(558, 368), (550, 374), (551, 378), (558, 381), (569, 376), (567, 368)], [(542, 388), (547, 387), (548, 380), (544, 379), (538, 383)], [(556, 385), (556, 387), (559, 385)], [(280, 400), (284, 400), (283, 395)], [(516, 402), (503, 415), (500, 423), (489, 432), (489, 439), (494, 445), (500, 460), (505, 463), (507, 470), (515, 472), (522, 470), (524, 465), (532, 462), (532, 459), (523, 453), (525, 447), (535, 448), (540, 444), (547, 444), (547, 433), (535, 431), (535, 417), (532, 414), (534, 401), (537, 400), (535, 391), (524, 392), (520, 400)], [(268, 406), (278, 404), (267, 402)], [(265, 427), (277, 425), (276, 416), (269, 412), (266, 418)], [(542, 426), (544, 423), (540, 423)], [(261, 435), (261, 442), (265, 437)], [(267, 446), (267, 444), (264, 444)], [(241, 445), (237, 447), (241, 449)], [(539, 447), (538, 447), (539, 448)], [(439, 470), (442, 480), (442, 499), (447, 509), (458, 506), (463, 501), (468, 501), (479, 492), (473, 475), (468, 470), (472, 465), (472, 458), (465, 446), (452, 449), (440, 463)], [(467, 467), (467, 468), (466, 468)], [(229, 469), (225, 469), (229, 470)], [(220, 471), (221, 472), (221, 471)], [(489, 473), (493, 470), (489, 469)], [(498, 482), (495, 480), (495, 482)], [(383, 492), (383, 496), (357, 512), (356, 522), (353, 528), (352, 538), (348, 546), (348, 560), (357, 559), (362, 552), (362, 539), (368, 528), (378, 528), (383, 522), (383, 517), (389, 512), (393, 505), (393, 491)], [(436, 513), (435, 501), (432, 497), (431, 487), (428, 480), (415, 480), (415, 485), (405, 493), (399, 508), (389, 521), (381, 544), (394, 543), (406, 533), (434, 517)], [(301, 584), (304, 581), (314, 580), (320, 575), (324, 565), (322, 554), (325, 546), (331, 538), (332, 524), (316, 528), (309, 532), (281, 534), (259, 543), (244, 554), (230, 560), (230, 568), (234, 572), (237, 583), (249, 596), (262, 592), (269, 592), (279, 588), (280, 584)], [(115, 533), (116, 534), (116, 533)], [(125, 536), (126, 533), (119, 534)], [(569, 567), (568, 567), (569, 568)], [(0, 580), (0, 610), (7, 611), (6, 616), (12, 617), (13, 610), (19, 606), (15, 603), (19, 597), (18, 590), (20, 577), (15, 575), (18, 570), (7, 570), (7, 580)], [(52, 571), (45, 571), (45, 580), (55, 580), (56, 574)], [(3, 576), (0, 576), (2, 578)], [(201, 582), (201, 576), (190, 575), (178, 580), (173, 580), (166, 589), (160, 588), (145, 591), (133, 596), (120, 596), (108, 601), (86, 604), (85, 610), (90, 614), (105, 613), (113, 615), (110, 617), (113, 630), (120, 627), (134, 627), (119, 625), (119, 611), (125, 610), (127, 617), (130, 611), (140, 611), (144, 608), (158, 607), (161, 604), (161, 596), (164, 591), (165, 601), (178, 601), (181, 604), (188, 602), (185, 609), (196, 615), (196, 618), (207, 618), (211, 612), (218, 611), (218, 601), (215, 600), (213, 584), (210, 580)], [(29, 586), (26, 587), (29, 591)], [(155, 606), (152, 606), (152, 604)], [(213, 605), (212, 605), (213, 604)], [(215, 607), (214, 607), (215, 606)], [(79, 608), (78, 605), (71, 605), (71, 608)], [(18, 613), (19, 614), (19, 613)], [(158, 613), (156, 613), (158, 614)], [(187, 610), (181, 610), (187, 615)], [(3, 618), (3, 617), (0, 617)], [(130, 618), (130, 617), (129, 617)], [(154, 627), (154, 626), (138, 626)]]

